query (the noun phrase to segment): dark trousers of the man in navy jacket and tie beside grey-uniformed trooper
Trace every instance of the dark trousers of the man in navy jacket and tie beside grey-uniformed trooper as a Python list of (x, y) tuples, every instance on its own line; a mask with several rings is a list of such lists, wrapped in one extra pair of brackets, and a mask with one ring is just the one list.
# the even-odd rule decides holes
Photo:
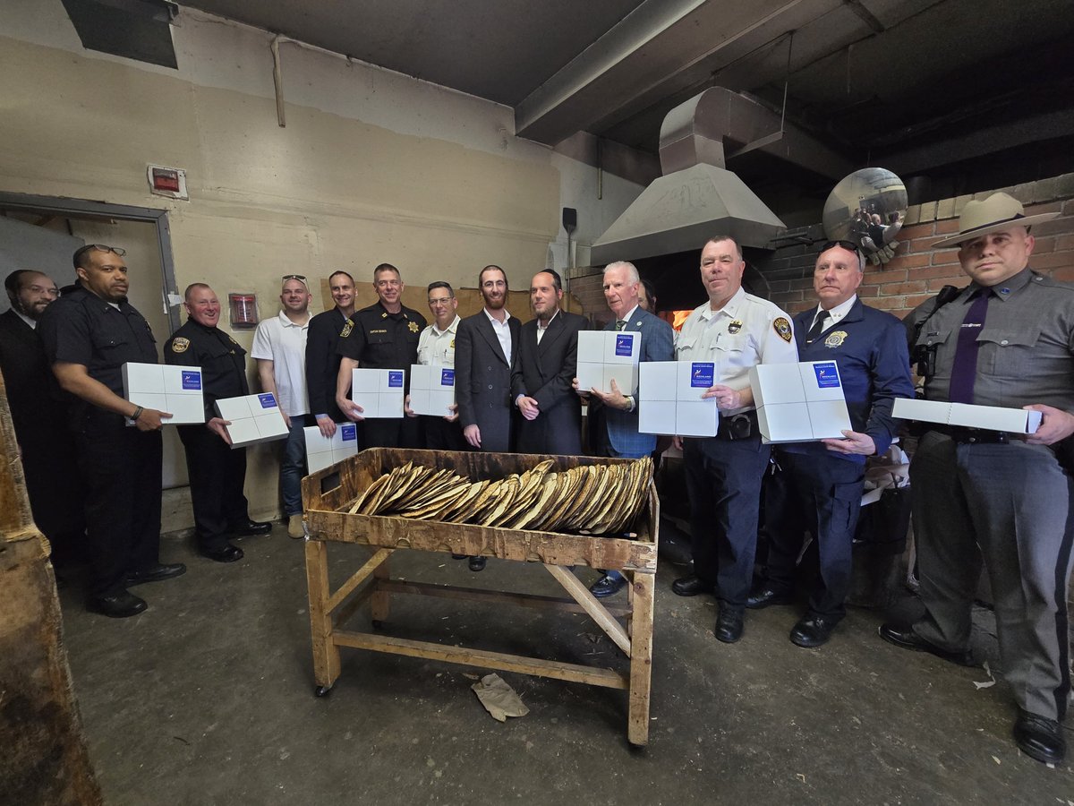
[[(789, 593), (804, 533), (816, 542), (819, 574), (809, 615), (839, 620), (851, 587), (854, 531), (861, 508), (865, 465), (817, 454), (775, 451), (780, 471), (766, 492), (768, 584)], [(811, 552), (812, 556), (812, 552)]]

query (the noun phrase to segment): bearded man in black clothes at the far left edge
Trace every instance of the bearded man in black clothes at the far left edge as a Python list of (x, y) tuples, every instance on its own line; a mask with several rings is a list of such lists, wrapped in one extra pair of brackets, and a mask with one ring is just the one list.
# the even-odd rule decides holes
[(0, 315), (0, 371), (15, 427), (33, 521), (52, 544), (53, 565), (83, 559), (86, 520), (74, 446), (66, 432), (70, 414), (52, 383), (38, 320), (56, 300), (56, 284), (42, 272), (18, 269), (4, 279), (11, 310)]

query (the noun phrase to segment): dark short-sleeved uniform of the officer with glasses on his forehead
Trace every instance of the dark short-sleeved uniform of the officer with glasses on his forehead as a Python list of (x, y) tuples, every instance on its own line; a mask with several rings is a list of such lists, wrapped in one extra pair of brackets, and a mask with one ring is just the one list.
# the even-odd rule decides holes
[[(157, 340), (145, 317), (126, 299), (110, 304), (81, 282), (45, 308), (38, 329), (50, 362), (84, 365), (120, 398), (125, 363), (159, 363)], [(122, 415), (74, 395), (69, 400), (86, 493), (88, 592), (116, 596), (126, 591), (128, 573), (160, 562), (163, 443), (159, 431), (128, 427)]]

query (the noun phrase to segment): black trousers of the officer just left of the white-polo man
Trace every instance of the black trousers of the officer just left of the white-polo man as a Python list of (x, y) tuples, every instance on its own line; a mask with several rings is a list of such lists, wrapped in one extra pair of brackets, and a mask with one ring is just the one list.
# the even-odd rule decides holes
[(228, 545), (232, 527), (249, 520), (246, 448), (232, 448), (205, 426), (178, 426), (187, 455), (190, 500), (198, 547), (216, 551)]

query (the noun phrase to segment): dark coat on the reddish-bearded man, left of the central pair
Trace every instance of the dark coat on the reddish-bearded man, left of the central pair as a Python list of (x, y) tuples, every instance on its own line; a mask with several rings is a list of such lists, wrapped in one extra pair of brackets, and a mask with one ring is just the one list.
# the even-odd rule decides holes
[(511, 332), (510, 360), (504, 357), (489, 316), (481, 310), (459, 322), (455, 331), (455, 403), (459, 422), (481, 430), (481, 450), (512, 449), (514, 407), (511, 405), (511, 366), (519, 355), (522, 323), (507, 320)]

